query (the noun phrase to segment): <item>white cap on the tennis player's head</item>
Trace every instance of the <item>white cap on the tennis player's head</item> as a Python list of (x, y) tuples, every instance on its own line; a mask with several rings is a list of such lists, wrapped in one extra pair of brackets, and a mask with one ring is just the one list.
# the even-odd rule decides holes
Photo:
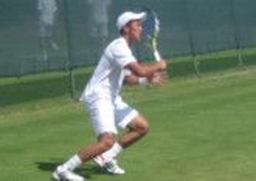
[(131, 11), (124, 12), (117, 18), (117, 29), (120, 31), (130, 21), (137, 19), (144, 19), (146, 16), (145, 12), (134, 13)]

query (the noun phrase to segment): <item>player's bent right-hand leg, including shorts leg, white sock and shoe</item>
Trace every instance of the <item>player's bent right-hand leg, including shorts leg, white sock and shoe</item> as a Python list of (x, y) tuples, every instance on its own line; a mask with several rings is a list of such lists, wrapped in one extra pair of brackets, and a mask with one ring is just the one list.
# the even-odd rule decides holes
[(147, 134), (148, 122), (142, 115), (139, 115), (138, 111), (122, 101), (121, 97), (117, 97), (115, 100), (114, 113), (115, 124), (122, 129), (128, 129), (128, 131), (122, 136), (119, 142), (114, 143), (111, 149), (95, 157), (94, 161), (109, 173), (124, 174), (125, 170), (118, 166), (116, 157), (123, 148), (128, 147)]

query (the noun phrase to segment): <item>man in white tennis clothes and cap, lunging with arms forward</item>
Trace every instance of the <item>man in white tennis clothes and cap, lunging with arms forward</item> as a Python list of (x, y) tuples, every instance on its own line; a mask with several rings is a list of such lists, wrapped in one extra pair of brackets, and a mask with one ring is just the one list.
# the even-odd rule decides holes
[[(131, 71), (129, 77), (134, 82), (138, 82), (140, 77), (152, 81), (154, 73), (166, 69), (166, 62), (163, 60), (140, 64), (131, 52), (129, 46), (140, 40), (144, 17), (145, 13), (133, 12), (125, 12), (118, 17), (117, 28), (121, 36), (105, 48), (81, 96), (90, 112), (98, 141), (82, 148), (67, 162), (58, 166), (53, 173), (54, 179), (84, 181), (85, 178), (73, 172), (75, 168), (104, 152), (107, 153), (109, 149), (118, 154), (148, 133), (147, 120), (119, 96), (125, 77), (122, 74), (124, 69)], [(161, 80), (161, 76), (158, 80)], [(128, 132), (120, 140), (116, 139), (117, 126), (128, 128)]]

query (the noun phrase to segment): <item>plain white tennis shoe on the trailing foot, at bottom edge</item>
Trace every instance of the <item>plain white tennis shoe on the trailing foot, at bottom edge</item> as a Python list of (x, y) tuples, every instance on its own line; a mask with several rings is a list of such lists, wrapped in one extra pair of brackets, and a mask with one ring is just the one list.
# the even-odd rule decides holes
[(52, 177), (56, 181), (86, 181), (82, 176), (77, 175), (70, 170), (65, 170), (61, 166), (57, 167), (57, 169), (52, 174)]

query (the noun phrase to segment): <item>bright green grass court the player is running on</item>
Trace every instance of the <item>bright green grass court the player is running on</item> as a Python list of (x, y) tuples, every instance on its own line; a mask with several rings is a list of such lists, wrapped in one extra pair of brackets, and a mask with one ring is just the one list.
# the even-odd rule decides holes
[[(0, 180), (48, 181), (57, 164), (95, 140), (61, 76), (0, 79)], [(108, 175), (93, 162), (77, 172), (92, 181), (254, 181), (255, 77), (251, 66), (126, 87), (125, 99), (148, 118), (150, 133), (120, 155), (125, 175)]]

